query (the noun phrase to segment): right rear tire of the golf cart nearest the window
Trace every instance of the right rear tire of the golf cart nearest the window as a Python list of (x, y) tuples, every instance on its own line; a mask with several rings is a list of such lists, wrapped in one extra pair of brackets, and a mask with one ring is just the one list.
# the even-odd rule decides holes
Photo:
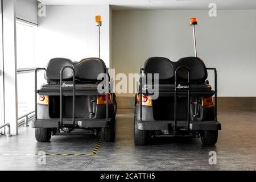
[(115, 118), (112, 118), (109, 127), (102, 127), (101, 139), (105, 142), (114, 142), (115, 140)]

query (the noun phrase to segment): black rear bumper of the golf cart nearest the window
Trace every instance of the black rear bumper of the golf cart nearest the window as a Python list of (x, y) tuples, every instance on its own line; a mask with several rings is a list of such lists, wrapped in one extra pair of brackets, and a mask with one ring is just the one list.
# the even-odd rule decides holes
[[(76, 119), (77, 128), (109, 127), (111, 119)], [(63, 125), (72, 125), (72, 119), (63, 119)], [(36, 119), (32, 121), (32, 128), (60, 128), (59, 119)]]

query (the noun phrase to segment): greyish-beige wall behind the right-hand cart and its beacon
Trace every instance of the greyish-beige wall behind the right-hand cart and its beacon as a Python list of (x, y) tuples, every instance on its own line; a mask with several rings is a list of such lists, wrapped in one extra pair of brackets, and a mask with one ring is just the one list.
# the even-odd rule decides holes
[(138, 73), (151, 56), (193, 56), (193, 17), (197, 55), (217, 68), (218, 96), (256, 96), (256, 10), (218, 10), (214, 18), (206, 10), (113, 11), (115, 72)]

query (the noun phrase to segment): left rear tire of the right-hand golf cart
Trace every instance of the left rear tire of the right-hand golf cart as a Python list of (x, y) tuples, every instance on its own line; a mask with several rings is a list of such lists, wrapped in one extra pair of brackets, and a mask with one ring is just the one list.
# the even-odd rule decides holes
[(134, 117), (134, 144), (143, 146), (147, 144), (147, 130), (138, 129), (138, 120)]

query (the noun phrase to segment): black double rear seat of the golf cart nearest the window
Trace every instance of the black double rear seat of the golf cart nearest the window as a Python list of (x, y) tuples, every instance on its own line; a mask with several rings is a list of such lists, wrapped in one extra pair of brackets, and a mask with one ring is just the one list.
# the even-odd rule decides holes
[[(75, 90), (76, 95), (98, 94), (98, 84), (104, 80), (97, 80), (100, 73), (106, 73), (106, 65), (104, 61), (98, 58), (83, 59), (77, 63), (73, 63), (65, 58), (53, 58), (49, 61), (44, 72), (48, 84), (41, 86), (38, 90), (39, 95), (59, 95), (60, 92), (60, 71), (65, 66), (74, 68), (75, 70)], [(109, 77), (109, 75), (108, 75)], [(71, 68), (65, 68), (63, 71), (63, 82), (72, 81), (73, 71)], [(103, 85), (102, 85), (103, 86)], [(65, 88), (65, 87), (64, 87)], [(64, 94), (70, 92), (72, 87), (66, 87)]]

